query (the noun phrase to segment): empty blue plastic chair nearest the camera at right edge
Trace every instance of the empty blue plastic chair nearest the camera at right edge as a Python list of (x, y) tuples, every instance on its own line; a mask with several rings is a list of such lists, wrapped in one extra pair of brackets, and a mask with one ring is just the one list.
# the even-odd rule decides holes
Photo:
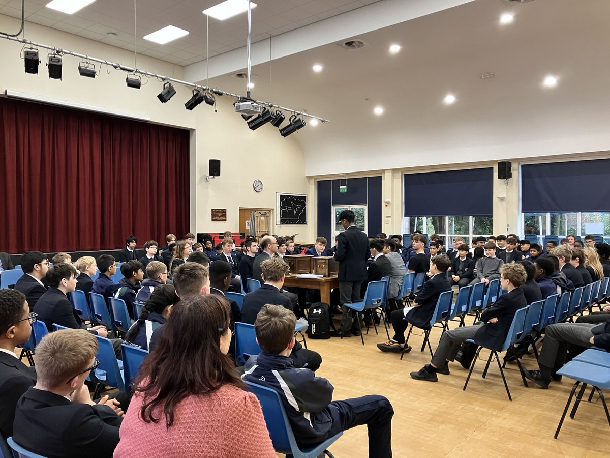
[[(557, 374), (560, 376), (570, 377), (570, 379), (576, 380), (574, 386), (572, 387), (572, 391), (570, 391), (570, 396), (568, 398), (568, 402), (565, 404), (564, 413), (561, 415), (561, 420), (559, 420), (559, 425), (557, 426), (557, 431), (555, 431), (554, 438), (557, 438), (559, 435), (559, 431), (561, 430), (561, 426), (564, 423), (565, 415), (570, 408), (570, 404), (572, 403), (572, 398), (574, 397), (574, 393), (576, 393), (576, 389), (578, 385), (583, 383), (576, 396), (576, 402), (574, 404), (574, 408), (572, 409), (572, 413), (570, 413), (570, 418), (574, 418), (576, 415), (576, 410), (578, 409), (578, 405), (580, 404), (581, 398), (583, 397), (584, 390), (587, 385), (591, 385), (595, 391), (600, 396), (601, 402), (604, 406), (604, 410), (606, 411), (606, 419), (608, 420), (608, 424), (610, 424), (610, 413), (608, 413), (608, 405), (606, 405), (606, 399), (604, 398), (601, 390), (608, 390), (610, 388), (610, 370), (608, 370), (608, 366), (601, 366), (597, 364), (590, 364), (583, 361), (570, 361), (565, 366), (563, 366)], [(590, 398), (589, 398), (590, 399)]]

